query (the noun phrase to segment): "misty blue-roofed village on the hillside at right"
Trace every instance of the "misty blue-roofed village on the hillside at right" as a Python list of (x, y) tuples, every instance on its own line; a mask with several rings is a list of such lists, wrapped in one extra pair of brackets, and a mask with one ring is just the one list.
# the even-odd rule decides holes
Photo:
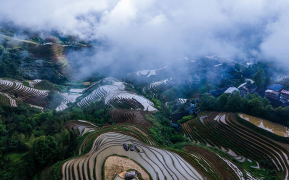
[[(210, 59), (203, 60), (203, 59)], [(256, 93), (261, 98), (267, 98), (273, 108), (286, 107), (289, 105), (289, 76), (281, 76), (273, 83), (261, 87), (254, 83), (253, 73), (249, 71), (247, 64), (235, 63), (232, 61), (218, 61), (216, 56), (206, 56), (202, 61), (189, 60), (193, 64), (193, 68), (188, 68), (187, 82), (192, 90), (198, 90), (202, 88), (203, 83), (209, 86), (211, 90), (207, 90), (205, 93), (217, 98), (223, 93), (230, 95), (233, 91), (238, 91), (241, 97), (245, 97), (247, 94)], [(198, 63), (196, 63), (198, 62)], [(250, 64), (249, 64), (250, 65)], [(198, 68), (197, 70), (196, 67)], [(238, 69), (236, 69), (237, 67)], [(241, 84), (240, 84), (241, 83)], [(178, 120), (188, 115), (197, 115), (199, 108), (197, 107), (200, 97), (203, 94), (199, 94), (198, 98), (194, 98), (181, 112), (175, 112), (170, 116), (173, 127), (178, 130)]]

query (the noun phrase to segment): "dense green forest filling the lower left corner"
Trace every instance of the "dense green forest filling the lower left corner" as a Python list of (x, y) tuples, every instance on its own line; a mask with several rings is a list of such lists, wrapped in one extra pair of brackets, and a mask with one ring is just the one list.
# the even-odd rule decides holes
[(0, 114), (0, 179), (29, 179), (46, 166), (75, 155), (78, 132), (68, 131), (64, 123), (83, 119), (102, 125), (110, 121), (103, 100), (85, 108), (43, 113), (21, 103), (15, 108), (0, 104)]

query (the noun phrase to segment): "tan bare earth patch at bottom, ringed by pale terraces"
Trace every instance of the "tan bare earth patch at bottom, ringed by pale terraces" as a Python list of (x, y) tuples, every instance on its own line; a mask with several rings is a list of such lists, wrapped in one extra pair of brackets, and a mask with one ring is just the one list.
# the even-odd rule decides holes
[(128, 169), (139, 171), (143, 180), (149, 180), (148, 173), (140, 165), (129, 158), (117, 155), (109, 156), (104, 161), (104, 179), (113, 179), (117, 174)]

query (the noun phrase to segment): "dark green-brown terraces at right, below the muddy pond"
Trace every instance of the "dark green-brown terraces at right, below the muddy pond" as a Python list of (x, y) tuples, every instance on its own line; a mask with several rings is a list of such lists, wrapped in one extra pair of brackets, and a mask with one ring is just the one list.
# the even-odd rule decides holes
[(249, 159), (258, 164), (267, 160), (279, 171), (278, 179), (288, 179), (288, 151), (238, 123), (235, 113), (209, 112), (181, 126), (192, 142), (221, 148), (240, 162)]

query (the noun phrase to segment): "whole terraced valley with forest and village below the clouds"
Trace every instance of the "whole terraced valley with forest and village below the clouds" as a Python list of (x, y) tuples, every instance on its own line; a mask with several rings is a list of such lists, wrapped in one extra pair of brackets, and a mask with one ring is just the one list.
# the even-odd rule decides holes
[(246, 119), (289, 124), (287, 102), (265, 96), (277, 81), (255, 83), (269, 62), (185, 56), (81, 76), (71, 53), (92, 42), (34, 38), (1, 35), (1, 179), (288, 179), (287, 135)]

